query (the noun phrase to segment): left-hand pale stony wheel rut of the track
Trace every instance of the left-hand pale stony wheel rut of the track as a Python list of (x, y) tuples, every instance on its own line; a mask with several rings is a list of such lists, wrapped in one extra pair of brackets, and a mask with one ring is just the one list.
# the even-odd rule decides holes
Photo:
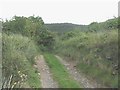
[(58, 88), (57, 83), (53, 80), (49, 67), (46, 64), (43, 55), (36, 57), (36, 68), (40, 72), (42, 88)]

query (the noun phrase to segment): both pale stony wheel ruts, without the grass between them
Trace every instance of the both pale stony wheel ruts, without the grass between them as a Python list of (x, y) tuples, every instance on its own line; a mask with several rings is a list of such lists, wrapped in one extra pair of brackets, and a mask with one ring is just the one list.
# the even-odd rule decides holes
[[(95, 81), (88, 80), (83, 74), (77, 71), (75, 63), (67, 62), (61, 57), (55, 55), (55, 57), (60, 61), (61, 64), (65, 66), (68, 73), (72, 78), (78, 82), (83, 88), (100, 88), (101, 85), (97, 84)], [(52, 74), (49, 70), (47, 63), (44, 60), (43, 55), (36, 57), (36, 68), (40, 72), (40, 80), (42, 88), (58, 88), (58, 84), (53, 80)]]

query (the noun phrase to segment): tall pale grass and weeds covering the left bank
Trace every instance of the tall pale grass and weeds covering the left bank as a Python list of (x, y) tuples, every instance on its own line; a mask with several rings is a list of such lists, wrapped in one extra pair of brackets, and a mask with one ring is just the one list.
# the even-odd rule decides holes
[(14, 88), (24, 87), (22, 85), (24, 82), (28, 84), (28, 87), (40, 87), (39, 76), (32, 66), (35, 63), (34, 57), (38, 54), (34, 42), (19, 34), (3, 33), (2, 44), (3, 82), (12, 76), (10, 84), (14, 85)]

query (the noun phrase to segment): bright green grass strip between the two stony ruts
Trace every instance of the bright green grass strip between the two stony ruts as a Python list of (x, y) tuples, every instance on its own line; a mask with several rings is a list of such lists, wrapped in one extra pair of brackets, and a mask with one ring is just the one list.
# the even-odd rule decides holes
[(52, 54), (44, 54), (44, 58), (60, 88), (80, 88), (81, 86), (68, 74), (64, 65)]

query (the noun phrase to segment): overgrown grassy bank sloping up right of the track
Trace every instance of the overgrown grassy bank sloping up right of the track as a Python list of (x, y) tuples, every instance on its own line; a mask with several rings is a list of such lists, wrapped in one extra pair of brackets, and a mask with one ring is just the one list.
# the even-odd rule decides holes
[(68, 39), (57, 39), (56, 53), (77, 61), (78, 70), (103, 85), (117, 87), (118, 30), (73, 33)]

